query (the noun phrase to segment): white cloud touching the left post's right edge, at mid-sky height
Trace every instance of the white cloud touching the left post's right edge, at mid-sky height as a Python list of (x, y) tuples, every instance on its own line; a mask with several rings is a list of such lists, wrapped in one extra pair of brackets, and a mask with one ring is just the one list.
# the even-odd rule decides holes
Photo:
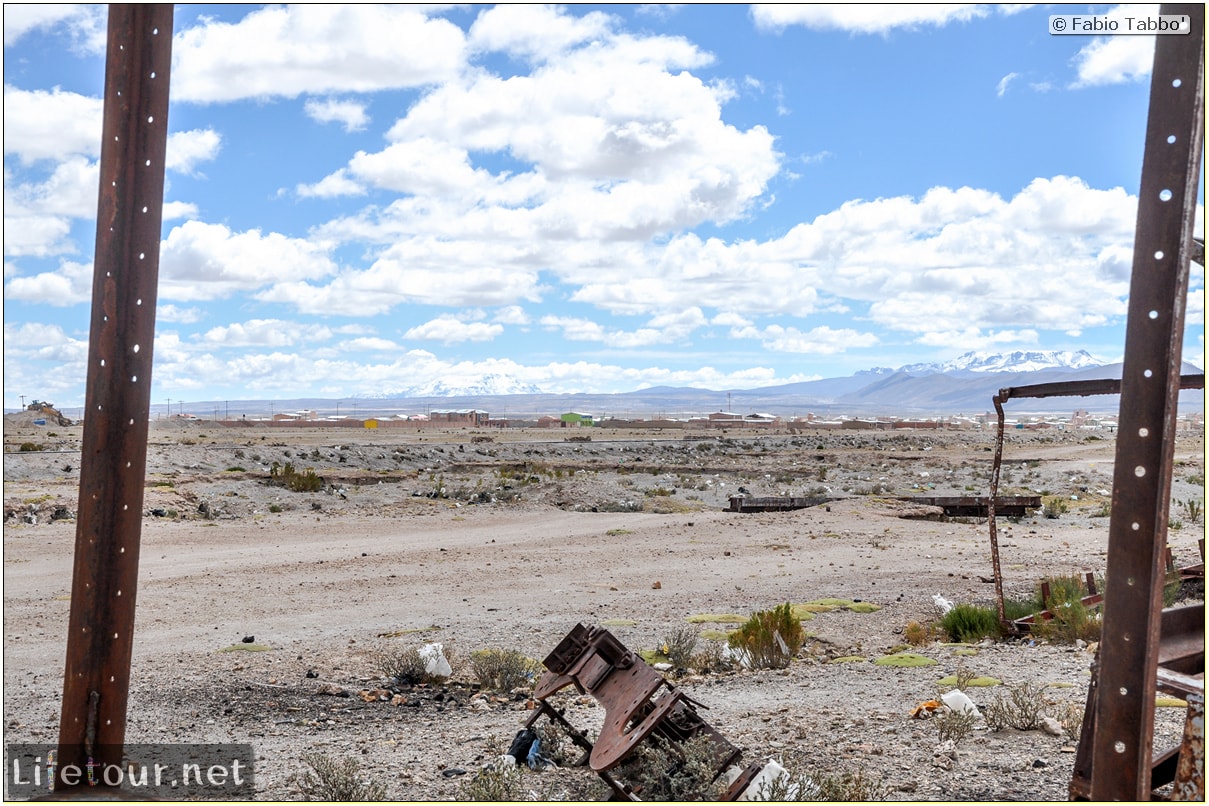
[(320, 279), (336, 271), (328, 251), (322, 243), (277, 232), (231, 232), (221, 224), (186, 221), (161, 247), (160, 296), (215, 300), (277, 283)]

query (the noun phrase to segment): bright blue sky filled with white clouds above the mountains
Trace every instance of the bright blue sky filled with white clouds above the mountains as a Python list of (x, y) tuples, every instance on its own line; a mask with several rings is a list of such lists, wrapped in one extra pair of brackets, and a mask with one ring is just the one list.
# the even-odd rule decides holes
[[(152, 402), (1120, 360), (1153, 37), (1047, 22), (1153, 8), (178, 6)], [(5, 6), (10, 408), (83, 400), (104, 40)]]

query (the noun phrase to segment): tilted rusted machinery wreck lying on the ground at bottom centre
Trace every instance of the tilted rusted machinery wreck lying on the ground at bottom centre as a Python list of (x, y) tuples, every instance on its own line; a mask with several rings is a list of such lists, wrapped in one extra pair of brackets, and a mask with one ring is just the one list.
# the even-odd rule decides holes
[[(525, 726), (532, 727), (542, 717), (561, 725), (584, 750), (577, 766), (589, 765), (614, 800), (640, 800), (640, 790), (618, 779), (613, 771), (652, 736), (665, 740), (673, 750), (692, 738), (707, 737), (712, 743), (713, 779), (737, 772), (723, 800), (739, 799), (763, 769), (752, 764), (739, 772), (742, 753), (696, 713), (705, 706), (669, 683), (603, 627), (575, 625), (543, 663), (549, 671), (538, 680), (533, 692), (538, 708)], [(604, 724), (595, 742), (546, 701), (567, 686), (590, 694), (604, 707)]]

